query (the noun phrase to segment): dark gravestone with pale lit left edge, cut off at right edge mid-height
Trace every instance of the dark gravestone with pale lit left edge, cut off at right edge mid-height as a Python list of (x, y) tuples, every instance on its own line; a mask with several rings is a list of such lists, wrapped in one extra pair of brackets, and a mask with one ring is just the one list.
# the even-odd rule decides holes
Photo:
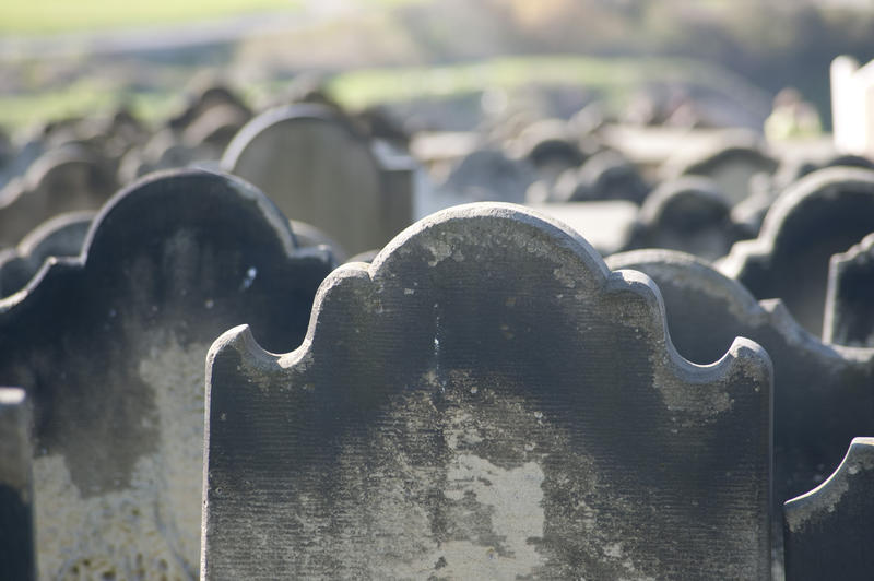
[(874, 234), (828, 265), (823, 341), (874, 347)]

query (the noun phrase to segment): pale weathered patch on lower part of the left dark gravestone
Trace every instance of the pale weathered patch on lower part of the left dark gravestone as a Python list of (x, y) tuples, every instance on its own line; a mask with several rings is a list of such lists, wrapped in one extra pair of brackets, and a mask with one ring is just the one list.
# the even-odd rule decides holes
[(34, 462), (40, 579), (197, 578), (208, 348), (172, 339), (140, 361), (160, 441), (138, 460), (128, 488), (83, 497), (62, 456)]

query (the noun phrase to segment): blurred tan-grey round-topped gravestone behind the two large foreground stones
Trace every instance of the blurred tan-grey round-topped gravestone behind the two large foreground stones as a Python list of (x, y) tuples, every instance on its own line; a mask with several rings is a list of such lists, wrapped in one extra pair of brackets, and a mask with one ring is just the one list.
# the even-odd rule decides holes
[(409, 167), (385, 167), (370, 141), (323, 105), (259, 115), (227, 146), (222, 167), (349, 252), (381, 247), (412, 221)]

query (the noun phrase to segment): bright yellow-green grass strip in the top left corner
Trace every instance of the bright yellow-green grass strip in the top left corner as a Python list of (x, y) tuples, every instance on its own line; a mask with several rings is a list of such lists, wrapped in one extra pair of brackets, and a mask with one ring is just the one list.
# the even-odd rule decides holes
[(7, 0), (0, 34), (51, 34), (295, 9), (300, 0)]

